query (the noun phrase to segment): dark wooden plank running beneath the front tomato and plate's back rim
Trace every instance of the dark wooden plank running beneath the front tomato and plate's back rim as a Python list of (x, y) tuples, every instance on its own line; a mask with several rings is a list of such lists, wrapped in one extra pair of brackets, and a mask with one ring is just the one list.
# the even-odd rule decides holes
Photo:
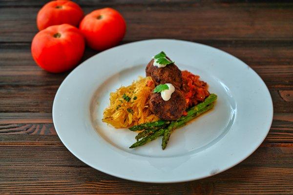
[[(186, 39), (187, 41), (208, 44), (220, 48), (236, 57), (242, 59), (249, 65), (292, 65), (293, 40), (290, 41), (237, 41), (237, 40), (200, 40)], [(139, 41), (135, 39), (134, 41)], [(129, 41), (123, 41), (129, 43)], [(1, 43), (0, 58), (3, 59), (3, 66), (28, 65), (33, 68), (30, 54), (30, 43)], [(86, 48), (84, 60), (98, 53), (98, 51)], [(21, 59), (21, 64), (15, 61), (15, 57)], [(33, 71), (35, 69), (30, 69)], [(55, 74), (57, 75), (57, 74)]]

